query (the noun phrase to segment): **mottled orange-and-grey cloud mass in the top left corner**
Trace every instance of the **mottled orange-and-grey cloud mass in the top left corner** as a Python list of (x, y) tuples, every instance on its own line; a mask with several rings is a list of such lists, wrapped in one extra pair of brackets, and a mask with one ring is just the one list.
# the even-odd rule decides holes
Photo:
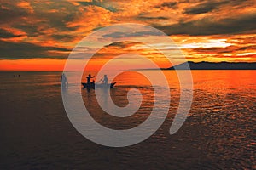
[[(58, 31), (75, 31), (79, 26), (68, 27), (81, 15), (77, 6), (67, 1), (48, 1), (38, 3), (31, 1), (33, 13), (26, 8), (19, 8), (15, 3), (2, 3), (0, 6), (0, 25), (9, 25), (20, 31), (26, 32), (28, 37), (37, 37), (47, 34), (48, 29), (55, 28)], [(43, 33), (45, 32), (45, 33)]]

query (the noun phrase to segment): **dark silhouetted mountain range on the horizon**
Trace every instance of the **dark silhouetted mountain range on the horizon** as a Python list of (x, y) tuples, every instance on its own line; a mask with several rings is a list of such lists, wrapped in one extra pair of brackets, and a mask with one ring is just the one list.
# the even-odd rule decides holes
[[(256, 62), (254, 63), (230, 63), (230, 62), (199, 62), (195, 63), (192, 61), (187, 62), (189, 64), (190, 70), (256, 70)], [(186, 70), (186, 63), (172, 66), (164, 70)]]

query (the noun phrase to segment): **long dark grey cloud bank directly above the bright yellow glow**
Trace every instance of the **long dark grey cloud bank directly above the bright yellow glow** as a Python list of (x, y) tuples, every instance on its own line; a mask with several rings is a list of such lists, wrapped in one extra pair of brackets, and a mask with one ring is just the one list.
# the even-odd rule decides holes
[(256, 31), (256, 14), (243, 14), (236, 18), (227, 18), (223, 20), (214, 20), (204, 18), (189, 22), (181, 22), (170, 26), (154, 26), (168, 35), (187, 34), (187, 35), (218, 35), (218, 34), (236, 34), (247, 31)]

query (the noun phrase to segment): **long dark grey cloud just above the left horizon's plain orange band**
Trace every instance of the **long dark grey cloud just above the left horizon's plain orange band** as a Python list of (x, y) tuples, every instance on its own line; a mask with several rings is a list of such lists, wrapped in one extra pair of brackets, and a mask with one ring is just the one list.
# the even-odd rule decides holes
[(49, 51), (70, 51), (67, 48), (41, 47), (28, 42), (0, 41), (0, 59), (67, 58), (66, 55), (49, 56)]

